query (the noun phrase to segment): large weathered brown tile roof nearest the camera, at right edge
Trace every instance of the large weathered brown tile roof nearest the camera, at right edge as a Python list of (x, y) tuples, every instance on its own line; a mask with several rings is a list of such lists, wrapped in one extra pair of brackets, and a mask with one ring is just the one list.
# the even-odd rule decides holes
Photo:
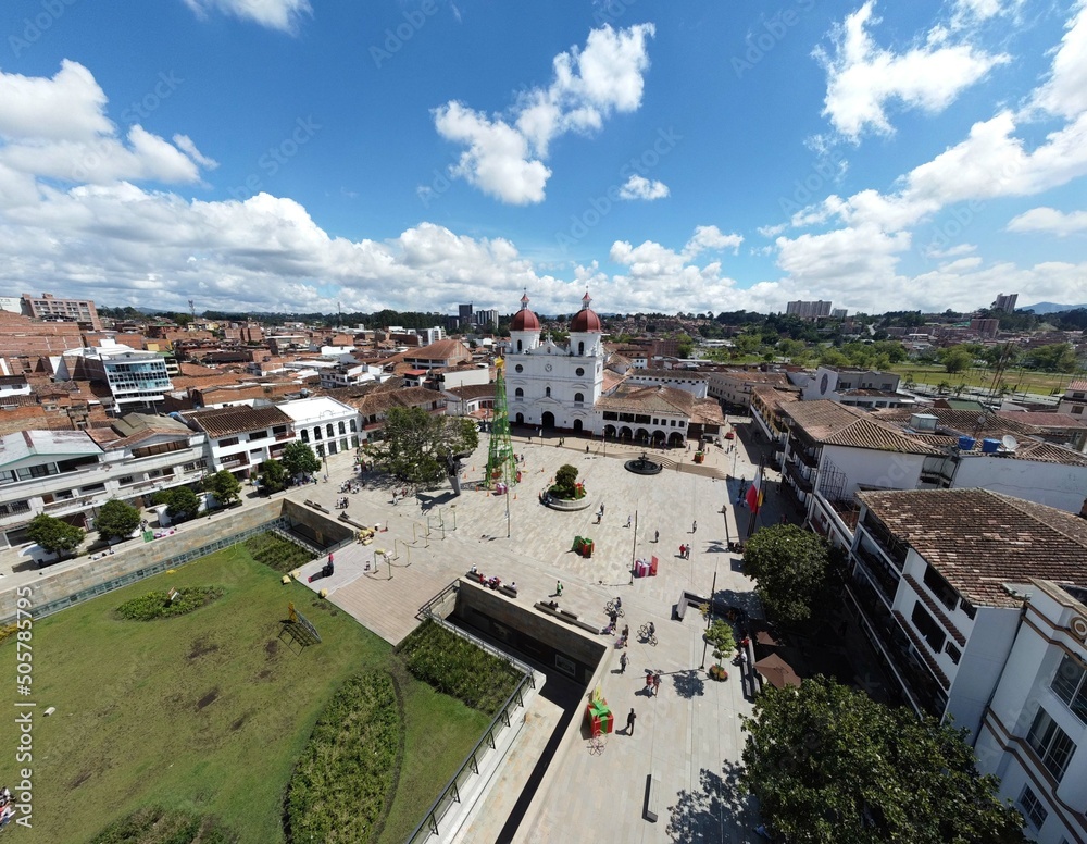
[(1087, 520), (987, 489), (862, 492), (858, 500), (975, 605), (1016, 606), (1004, 583), (1087, 584)]

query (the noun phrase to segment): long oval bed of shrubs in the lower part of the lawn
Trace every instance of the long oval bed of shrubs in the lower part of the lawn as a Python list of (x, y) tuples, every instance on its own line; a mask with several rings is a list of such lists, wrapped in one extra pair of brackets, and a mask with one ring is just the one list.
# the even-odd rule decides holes
[(348, 680), (321, 713), (287, 786), (288, 842), (370, 841), (403, 756), (403, 712), (391, 675)]

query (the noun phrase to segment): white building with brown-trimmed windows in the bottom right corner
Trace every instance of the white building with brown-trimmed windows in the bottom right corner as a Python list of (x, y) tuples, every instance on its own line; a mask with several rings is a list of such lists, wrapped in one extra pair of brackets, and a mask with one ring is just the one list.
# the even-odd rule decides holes
[(1013, 588), (1023, 608), (975, 745), (978, 770), (1000, 778), (1035, 841), (1087, 841), (1087, 589), (1045, 580)]

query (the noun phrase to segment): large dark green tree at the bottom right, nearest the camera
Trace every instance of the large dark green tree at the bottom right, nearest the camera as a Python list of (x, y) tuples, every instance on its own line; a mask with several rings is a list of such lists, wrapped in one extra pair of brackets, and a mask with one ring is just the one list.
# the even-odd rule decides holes
[(766, 688), (742, 718), (744, 784), (785, 840), (1012, 844), (1023, 819), (978, 774), (965, 731), (825, 677)]

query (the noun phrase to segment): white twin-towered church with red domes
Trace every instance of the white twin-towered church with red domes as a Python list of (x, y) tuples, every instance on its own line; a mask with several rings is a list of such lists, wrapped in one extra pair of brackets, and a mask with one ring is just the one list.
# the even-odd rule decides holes
[(604, 348), (600, 318), (589, 308), (570, 321), (566, 346), (540, 339), (540, 322), (528, 309), (528, 295), (510, 324), (505, 361), (507, 398), (514, 424), (596, 433), (594, 408), (603, 389)]

